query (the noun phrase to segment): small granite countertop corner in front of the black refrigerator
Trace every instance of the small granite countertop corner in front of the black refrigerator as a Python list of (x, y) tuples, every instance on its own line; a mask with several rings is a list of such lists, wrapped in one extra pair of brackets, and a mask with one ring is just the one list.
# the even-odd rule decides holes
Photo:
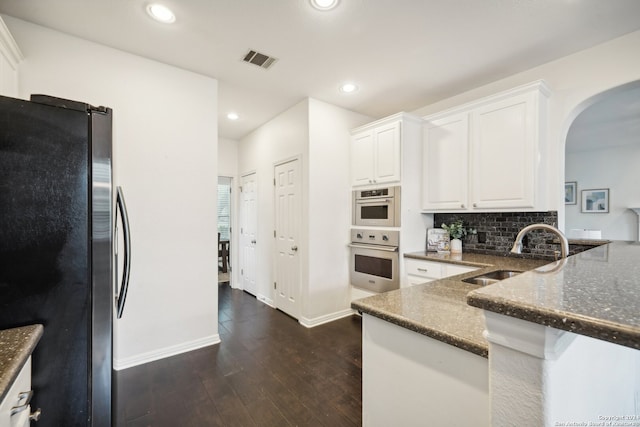
[(0, 401), (40, 341), (43, 329), (42, 325), (30, 325), (0, 331)]

